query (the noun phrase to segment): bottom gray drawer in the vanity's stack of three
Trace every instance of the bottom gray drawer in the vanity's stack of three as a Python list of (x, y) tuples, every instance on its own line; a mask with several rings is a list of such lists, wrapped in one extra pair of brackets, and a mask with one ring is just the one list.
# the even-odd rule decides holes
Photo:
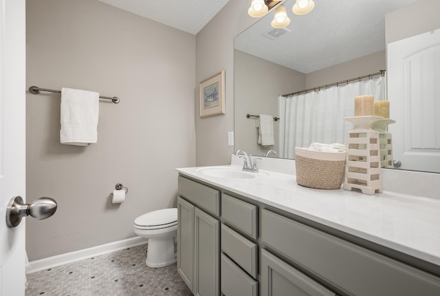
[(221, 253), (221, 294), (225, 296), (257, 296), (259, 283)]

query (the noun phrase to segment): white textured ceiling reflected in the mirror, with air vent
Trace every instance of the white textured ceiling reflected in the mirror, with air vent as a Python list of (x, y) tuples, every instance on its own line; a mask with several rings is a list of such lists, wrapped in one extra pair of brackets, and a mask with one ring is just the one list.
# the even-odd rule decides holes
[(294, 0), (287, 0), (289, 31), (276, 39), (264, 36), (273, 29), (272, 11), (236, 37), (234, 47), (307, 74), (384, 50), (385, 14), (415, 1), (315, 0), (314, 10), (298, 16)]

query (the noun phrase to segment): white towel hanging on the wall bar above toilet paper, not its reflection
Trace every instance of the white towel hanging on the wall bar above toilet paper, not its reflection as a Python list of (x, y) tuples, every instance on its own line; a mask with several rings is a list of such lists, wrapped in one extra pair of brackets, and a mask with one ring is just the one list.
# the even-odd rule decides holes
[(98, 141), (99, 94), (61, 89), (61, 144), (87, 146)]

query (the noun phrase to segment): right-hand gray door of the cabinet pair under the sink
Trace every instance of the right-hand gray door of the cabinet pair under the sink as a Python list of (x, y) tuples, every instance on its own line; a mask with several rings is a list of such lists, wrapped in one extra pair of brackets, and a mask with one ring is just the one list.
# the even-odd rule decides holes
[(194, 295), (220, 294), (220, 221), (195, 208), (195, 288)]

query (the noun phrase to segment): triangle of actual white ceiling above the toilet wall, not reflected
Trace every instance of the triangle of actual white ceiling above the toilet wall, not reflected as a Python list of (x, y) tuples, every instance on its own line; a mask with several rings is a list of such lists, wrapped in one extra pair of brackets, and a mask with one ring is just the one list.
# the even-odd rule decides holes
[[(197, 34), (229, 0), (98, 0), (170, 27)], [(246, 1), (246, 0), (240, 0)]]

